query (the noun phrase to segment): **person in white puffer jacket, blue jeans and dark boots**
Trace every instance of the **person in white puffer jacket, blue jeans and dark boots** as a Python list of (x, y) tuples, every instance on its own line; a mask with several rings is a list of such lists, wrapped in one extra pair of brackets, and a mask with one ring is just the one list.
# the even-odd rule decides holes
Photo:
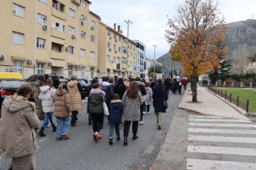
[(54, 112), (53, 97), (55, 96), (53, 80), (48, 78), (46, 80), (46, 86), (40, 86), (40, 91), (41, 93), (38, 96), (38, 98), (42, 101), (43, 112), (46, 113), (46, 117), (43, 120), (43, 124), (41, 129), (39, 130), (38, 135), (41, 137), (44, 137), (46, 136), (46, 134), (43, 133), (43, 130), (44, 128), (46, 128), (48, 121), (50, 121), (50, 125), (52, 125), (53, 127), (53, 132), (56, 131), (56, 127), (53, 123), (53, 112)]

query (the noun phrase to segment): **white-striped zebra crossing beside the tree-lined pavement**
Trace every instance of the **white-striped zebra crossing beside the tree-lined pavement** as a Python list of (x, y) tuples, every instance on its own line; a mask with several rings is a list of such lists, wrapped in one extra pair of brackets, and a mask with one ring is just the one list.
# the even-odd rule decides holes
[(186, 169), (255, 169), (256, 124), (210, 115), (189, 115)]

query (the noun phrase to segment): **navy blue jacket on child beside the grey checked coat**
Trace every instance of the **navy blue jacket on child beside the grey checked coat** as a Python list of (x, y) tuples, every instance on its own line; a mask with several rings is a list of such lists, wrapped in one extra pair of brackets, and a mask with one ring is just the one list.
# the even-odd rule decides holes
[(122, 101), (112, 100), (110, 102), (110, 123), (120, 123), (122, 118)]

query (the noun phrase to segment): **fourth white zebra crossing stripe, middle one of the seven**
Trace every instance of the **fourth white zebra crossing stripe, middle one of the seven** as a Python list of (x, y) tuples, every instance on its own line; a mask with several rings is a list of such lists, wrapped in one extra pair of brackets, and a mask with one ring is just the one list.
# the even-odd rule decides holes
[(230, 129), (204, 129), (204, 128), (188, 128), (188, 132), (202, 133), (234, 133), (234, 134), (256, 134), (256, 130), (230, 130)]

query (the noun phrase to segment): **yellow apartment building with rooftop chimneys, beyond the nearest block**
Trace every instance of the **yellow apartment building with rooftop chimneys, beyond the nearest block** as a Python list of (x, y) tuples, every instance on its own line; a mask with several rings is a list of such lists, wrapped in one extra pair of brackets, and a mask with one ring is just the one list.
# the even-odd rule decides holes
[(137, 44), (122, 35), (120, 26), (114, 28), (99, 21), (98, 75), (127, 77), (134, 75)]

